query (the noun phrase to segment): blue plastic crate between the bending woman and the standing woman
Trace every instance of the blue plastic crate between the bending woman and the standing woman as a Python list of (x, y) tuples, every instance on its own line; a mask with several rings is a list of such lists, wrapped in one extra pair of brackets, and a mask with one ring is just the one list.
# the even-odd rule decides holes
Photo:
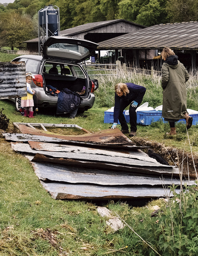
[(150, 125), (152, 122), (159, 121), (161, 117), (161, 111), (137, 111), (137, 124)]

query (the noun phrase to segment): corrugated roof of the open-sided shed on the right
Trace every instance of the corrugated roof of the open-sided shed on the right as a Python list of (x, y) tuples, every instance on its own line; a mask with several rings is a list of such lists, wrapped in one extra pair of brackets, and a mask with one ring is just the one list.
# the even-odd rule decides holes
[(162, 49), (164, 47), (198, 50), (198, 22), (159, 24), (99, 42), (104, 49)]

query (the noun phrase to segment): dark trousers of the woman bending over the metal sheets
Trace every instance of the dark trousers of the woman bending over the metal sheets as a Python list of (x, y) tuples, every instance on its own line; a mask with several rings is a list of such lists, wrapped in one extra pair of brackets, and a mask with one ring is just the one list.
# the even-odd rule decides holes
[[(120, 122), (122, 130), (129, 129), (128, 125), (126, 123), (126, 119), (123, 115), (123, 111), (129, 104), (131, 104), (131, 102), (132, 101), (120, 99), (120, 113), (119, 113), (118, 120)], [(139, 105), (140, 104), (138, 103), (138, 106)], [(132, 106), (129, 107), (129, 118), (130, 118), (131, 131), (137, 131), (137, 114), (136, 114), (137, 107), (136, 108), (134, 108)]]

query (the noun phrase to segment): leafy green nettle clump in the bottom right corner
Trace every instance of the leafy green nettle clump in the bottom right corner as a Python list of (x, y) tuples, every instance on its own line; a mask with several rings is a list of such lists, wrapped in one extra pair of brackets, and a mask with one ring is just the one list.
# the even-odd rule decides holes
[[(174, 197), (162, 203), (155, 217), (151, 217), (149, 209), (144, 209), (139, 215), (129, 210), (124, 218), (159, 255), (195, 256), (198, 254), (198, 188), (196, 185), (185, 187), (181, 194), (177, 194), (175, 188), (174, 185), (171, 188)], [(127, 245), (125, 250), (133, 255), (157, 255), (127, 227), (121, 231), (121, 240), (118, 247)]]

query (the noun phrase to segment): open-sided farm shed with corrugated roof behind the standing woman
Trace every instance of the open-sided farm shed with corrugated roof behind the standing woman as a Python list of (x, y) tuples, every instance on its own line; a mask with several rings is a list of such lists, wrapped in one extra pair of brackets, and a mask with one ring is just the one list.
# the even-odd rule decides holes
[(189, 70), (198, 65), (198, 22), (159, 24), (99, 42), (98, 50), (122, 50), (125, 63), (160, 70), (160, 51), (170, 47)]

